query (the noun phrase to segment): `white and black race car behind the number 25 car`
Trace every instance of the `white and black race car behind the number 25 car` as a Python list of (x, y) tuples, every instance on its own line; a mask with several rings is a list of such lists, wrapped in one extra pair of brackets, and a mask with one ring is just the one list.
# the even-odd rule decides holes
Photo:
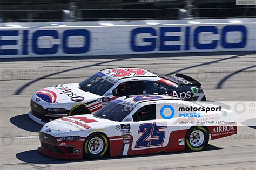
[(80, 83), (57, 84), (38, 90), (31, 98), (29, 117), (45, 124), (65, 116), (92, 114), (114, 98), (140, 94), (206, 100), (201, 84), (183, 74), (164, 76), (141, 68), (109, 68)]

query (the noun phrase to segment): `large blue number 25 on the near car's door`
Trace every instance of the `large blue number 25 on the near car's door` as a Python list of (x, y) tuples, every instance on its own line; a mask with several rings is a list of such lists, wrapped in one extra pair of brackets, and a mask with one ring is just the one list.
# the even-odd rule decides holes
[(156, 123), (145, 123), (139, 126), (138, 133), (142, 136), (136, 141), (135, 148), (159, 146), (164, 143), (165, 131), (159, 131), (166, 126), (156, 126)]

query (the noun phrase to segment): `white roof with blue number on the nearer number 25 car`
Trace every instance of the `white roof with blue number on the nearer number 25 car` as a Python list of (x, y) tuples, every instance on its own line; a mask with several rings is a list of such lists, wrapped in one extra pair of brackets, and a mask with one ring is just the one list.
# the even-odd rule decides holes
[(166, 96), (166, 95), (133, 95), (133, 96), (123, 96), (117, 98), (117, 100), (122, 100), (134, 104), (149, 101), (161, 101), (161, 100), (179, 100), (179, 98)]

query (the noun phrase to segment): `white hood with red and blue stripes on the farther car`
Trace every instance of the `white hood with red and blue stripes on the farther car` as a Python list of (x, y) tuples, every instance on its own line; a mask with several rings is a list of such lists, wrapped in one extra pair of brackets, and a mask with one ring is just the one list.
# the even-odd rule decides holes
[(101, 96), (80, 89), (78, 83), (58, 84), (38, 90), (36, 96), (48, 103), (91, 101)]

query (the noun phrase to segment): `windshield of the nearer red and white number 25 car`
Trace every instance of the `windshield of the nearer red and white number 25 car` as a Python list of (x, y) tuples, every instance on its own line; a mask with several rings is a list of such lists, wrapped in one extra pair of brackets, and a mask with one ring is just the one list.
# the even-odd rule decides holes
[(93, 114), (96, 117), (109, 119), (111, 121), (121, 122), (123, 119), (130, 114), (130, 112), (136, 107), (136, 104), (113, 100), (107, 104), (104, 108)]

